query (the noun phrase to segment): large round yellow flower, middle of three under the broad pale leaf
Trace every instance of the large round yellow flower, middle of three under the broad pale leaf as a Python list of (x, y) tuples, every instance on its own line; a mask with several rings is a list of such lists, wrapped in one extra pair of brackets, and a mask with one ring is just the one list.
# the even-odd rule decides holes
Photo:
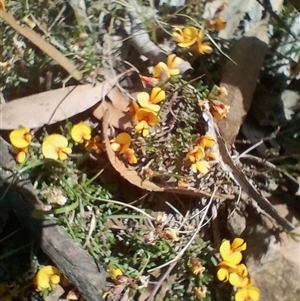
[(44, 139), (42, 153), (47, 159), (66, 160), (72, 149), (68, 147), (68, 140), (60, 134), (51, 134)]

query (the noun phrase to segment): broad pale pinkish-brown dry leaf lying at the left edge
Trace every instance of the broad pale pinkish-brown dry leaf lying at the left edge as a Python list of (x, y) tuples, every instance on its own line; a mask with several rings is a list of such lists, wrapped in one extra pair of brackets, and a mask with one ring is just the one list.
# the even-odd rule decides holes
[(24, 126), (37, 128), (53, 124), (84, 112), (97, 104), (112, 89), (103, 82), (70, 86), (15, 99), (0, 105), (0, 129)]

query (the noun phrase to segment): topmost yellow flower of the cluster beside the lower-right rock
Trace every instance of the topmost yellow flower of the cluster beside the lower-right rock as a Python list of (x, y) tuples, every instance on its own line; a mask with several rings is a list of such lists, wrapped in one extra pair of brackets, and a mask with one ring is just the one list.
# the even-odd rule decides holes
[(247, 243), (242, 238), (235, 238), (230, 244), (229, 240), (224, 240), (220, 246), (220, 254), (224, 261), (239, 264), (243, 258), (241, 251), (245, 251)]

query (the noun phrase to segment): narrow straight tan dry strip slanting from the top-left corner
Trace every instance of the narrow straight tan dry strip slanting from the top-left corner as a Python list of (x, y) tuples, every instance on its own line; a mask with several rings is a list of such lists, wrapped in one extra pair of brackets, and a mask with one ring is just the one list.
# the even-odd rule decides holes
[[(0, 5), (1, 9), (1, 5)], [(4, 4), (3, 4), (4, 9)], [(82, 79), (82, 73), (76, 69), (76, 66), (66, 58), (61, 52), (59, 52), (55, 47), (44, 40), (40, 35), (34, 32), (29, 27), (20, 26), (15, 18), (9, 13), (2, 10), (0, 12), (0, 18), (2, 18), (7, 24), (9, 24), (13, 29), (15, 29), (22, 36), (27, 38), (47, 55), (49, 55), (54, 61), (56, 61), (60, 66), (62, 66), (69, 74), (71, 74), (76, 80), (80, 81)]]

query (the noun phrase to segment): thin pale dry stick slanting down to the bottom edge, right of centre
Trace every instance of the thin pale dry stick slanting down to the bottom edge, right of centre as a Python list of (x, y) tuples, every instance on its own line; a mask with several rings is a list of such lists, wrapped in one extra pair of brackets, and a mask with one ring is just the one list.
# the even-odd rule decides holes
[(200, 220), (200, 223), (198, 225), (198, 228), (196, 229), (195, 233), (193, 234), (193, 236), (191, 237), (191, 239), (189, 240), (189, 242), (180, 250), (180, 252), (177, 254), (177, 256), (174, 258), (173, 263), (170, 264), (169, 268), (166, 270), (166, 272), (160, 277), (159, 281), (157, 282), (157, 284), (155, 285), (153, 291), (151, 292), (149, 298), (147, 299), (147, 301), (153, 301), (155, 298), (156, 293), (158, 292), (158, 290), (160, 289), (162, 283), (164, 282), (164, 280), (169, 276), (169, 274), (171, 273), (171, 271), (174, 269), (174, 267), (176, 266), (178, 260), (183, 256), (183, 254), (185, 253), (185, 251), (190, 247), (191, 243), (193, 242), (193, 240), (196, 238), (196, 236), (198, 235), (198, 233), (200, 232), (203, 223), (204, 223), (204, 219), (207, 216), (207, 212), (208, 209), (210, 208), (210, 205), (212, 204), (214, 195), (217, 191), (217, 187), (215, 187), (211, 198), (209, 200), (209, 203), (206, 205), (206, 210)]

